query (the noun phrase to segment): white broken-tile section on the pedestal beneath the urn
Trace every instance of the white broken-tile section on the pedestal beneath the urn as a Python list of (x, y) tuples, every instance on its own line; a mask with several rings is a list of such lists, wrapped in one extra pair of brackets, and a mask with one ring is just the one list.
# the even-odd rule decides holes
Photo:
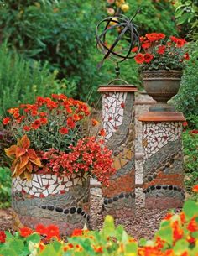
[(144, 146), (144, 159), (148, 159), (164, 147), (169, 141), (173, 142), (180, 138), (182, 128), (178, 122), (143, 123), (143, 140), (147, 141)]

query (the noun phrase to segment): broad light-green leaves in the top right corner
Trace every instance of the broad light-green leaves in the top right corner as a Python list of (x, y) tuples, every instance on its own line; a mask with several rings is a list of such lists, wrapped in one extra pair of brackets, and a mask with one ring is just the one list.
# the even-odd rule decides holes
[(179, 0), (176, 7), (176, 22), (182, 26), (180, 32), (189, 34), (191, 39), (198, 41), (198, 1)]

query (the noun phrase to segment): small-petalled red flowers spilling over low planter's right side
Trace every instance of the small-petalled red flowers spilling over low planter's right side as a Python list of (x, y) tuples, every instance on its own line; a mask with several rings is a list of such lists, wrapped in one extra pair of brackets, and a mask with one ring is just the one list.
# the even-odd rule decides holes
[(109, 176), (115, 172), (115, 169), (112, 168), (112, 151), (107, 149), (102, 139), (82, 138), (78, 140), (76, 146), (70, 145), (69, 148), (70, 153), (56, 149), (40, 152), (44, 172), (65, 176), (86, 172), (108, 185)]

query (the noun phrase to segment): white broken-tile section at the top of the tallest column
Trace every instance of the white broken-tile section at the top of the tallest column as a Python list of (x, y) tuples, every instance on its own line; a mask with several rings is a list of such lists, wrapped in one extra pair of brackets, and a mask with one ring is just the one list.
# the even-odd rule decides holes
[(102, 96), (102, 127), (106, 141), (121, 126), (127, 92), (106, 92)]

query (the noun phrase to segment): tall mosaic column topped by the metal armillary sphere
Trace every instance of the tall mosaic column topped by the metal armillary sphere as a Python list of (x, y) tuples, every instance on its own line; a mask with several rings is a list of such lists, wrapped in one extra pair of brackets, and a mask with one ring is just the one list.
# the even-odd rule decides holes
[(130, 217), (135, 213), (134, 92), (135, 86), (101, 86), (102, 128), (114, 155), (110, 185), (102, 185), (102, 213)]

